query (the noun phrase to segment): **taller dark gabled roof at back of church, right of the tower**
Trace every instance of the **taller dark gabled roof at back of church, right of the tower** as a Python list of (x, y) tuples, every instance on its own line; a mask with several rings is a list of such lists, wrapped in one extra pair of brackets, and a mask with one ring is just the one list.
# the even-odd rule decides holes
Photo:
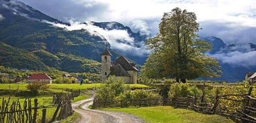
[(135, 70), (138, 71), (137, 68), (135, 68), (135, 64), (130, 63), (123, 55), (121, 55), (116, 61), (116, 64), (120, 64), (121, 67), (123, 67), (124, 70)]

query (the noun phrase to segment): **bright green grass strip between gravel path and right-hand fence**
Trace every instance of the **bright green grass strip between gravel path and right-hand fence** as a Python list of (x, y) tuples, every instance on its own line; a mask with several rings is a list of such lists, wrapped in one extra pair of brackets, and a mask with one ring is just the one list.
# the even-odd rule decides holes
[(139, 116), (146, 122), (151, 123), (232, 123), (233, 121), (219, 115), (201, 114), (193, 110), (181, 108), (173, 108), (171, 106), (153, 106), (139, 108), (104, 108), (103, 110), (112, 110), (118, 112), (126, 112)]

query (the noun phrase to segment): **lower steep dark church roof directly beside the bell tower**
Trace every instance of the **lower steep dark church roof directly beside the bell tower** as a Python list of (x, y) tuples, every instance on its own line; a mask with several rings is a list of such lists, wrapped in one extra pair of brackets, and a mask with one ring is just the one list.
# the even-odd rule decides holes
[(110, 74), (108, 74), (108, 76), (111, 75), (131, 77), (131, 75), (117, 62), (114, 62), (110, 68)]

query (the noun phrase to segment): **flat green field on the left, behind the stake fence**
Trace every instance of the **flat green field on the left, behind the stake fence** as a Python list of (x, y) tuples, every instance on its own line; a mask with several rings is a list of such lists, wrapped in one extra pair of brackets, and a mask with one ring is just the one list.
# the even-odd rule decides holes
[[(34, 99), (38, 99), (38, 106), (49, 106), (53, 102), (53, 94), (57, 92), (67, 92), (66, 90), (86, 90), (88, 88), (94, 88), (100, 86), (100, 84), (83, 84), (80, 86), (80, 84), (49, 84), (50, 88), (46, 91), (40, 91), (38, 96), (17, 96), (18, 94), (28, 91), (26, 86), (28, 84), (0, 84), (0, 102), (3, 101), (3, 99), (8, 100), (9, 97), (9, 105), (12, 104), (13, 101), (20, 101), (21, 106), (24, 104), (24, 100), (26, 98), (31, 98), (32, 100), (32, 107), (34, 106)], [(74, 100), (71, 100), (72, 102), (76, 102), (79, 100), (83, 100), (88, 98), (88, 95), (83, 94), (80, 95)], [(2, 104), (0, 103), (0, 106)], [(53, 114), (55, 112), (56, 108), (47, 108), (46, 109), (46, 121), (51, 120), (53, 117)], [(42, 111), (38, 110), (38, 119), (42, 118)]]

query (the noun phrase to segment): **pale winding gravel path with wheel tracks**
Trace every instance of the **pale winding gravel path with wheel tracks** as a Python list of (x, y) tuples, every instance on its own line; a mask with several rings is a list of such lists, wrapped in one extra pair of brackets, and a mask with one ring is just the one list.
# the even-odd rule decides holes
[[(144, 121), (137, 116), (126, 114), (123, 112), (113, 112), (104, 110), (92, 110), (88, 106), (92, 105), (93, 98), (81, 100), (72, 104), (75, 112), (81, 115), (77, 123), (143, 123)], [(80, 107), (80, 108), (78, 108)]]

